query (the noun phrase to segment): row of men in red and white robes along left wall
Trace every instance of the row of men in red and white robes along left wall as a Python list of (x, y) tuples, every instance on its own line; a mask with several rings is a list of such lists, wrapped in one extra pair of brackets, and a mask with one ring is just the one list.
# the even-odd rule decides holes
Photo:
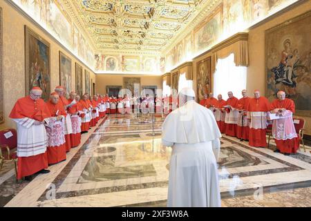
[[(17, 100), (10, 113), (17, 122), (17, 180), (32, 180), (35, 173), (48, 173), (49, 164), (66, 160), (66, 152), (81, 142), (86, 113), (100, 110), (100, 116), (105, 115), (102, 99), (93, 108), (91, 104), (84, 107), (75, 92), (67, 100), (62, 86), (55, 88), (46, 103), (41, 95), (41, 88), (32, 88), (30, 95)], [(89, 103), (88, 95), (84, 97)], [(95, 120), (97, 123), (99, 117)]]

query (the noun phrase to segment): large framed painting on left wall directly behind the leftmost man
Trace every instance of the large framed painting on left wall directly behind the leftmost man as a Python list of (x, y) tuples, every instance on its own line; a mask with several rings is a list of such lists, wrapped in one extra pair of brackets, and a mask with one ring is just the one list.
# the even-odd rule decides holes
[(26, 95), (37, 86), (42, 99), (50, 96), (50, 44), (25, 26)]

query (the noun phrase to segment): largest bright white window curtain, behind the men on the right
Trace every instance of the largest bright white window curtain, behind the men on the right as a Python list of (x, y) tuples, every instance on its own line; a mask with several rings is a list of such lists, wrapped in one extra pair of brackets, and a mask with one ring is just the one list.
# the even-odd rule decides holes
[(228, 99), (228, 91), (232, 91), (234, 97), (241, 98), (241, 91), (246, 89), (247, 67), (234, 64), (234, 54), (218, 59), (214, 73), (214, 97), (219, 94), (223, 99)]

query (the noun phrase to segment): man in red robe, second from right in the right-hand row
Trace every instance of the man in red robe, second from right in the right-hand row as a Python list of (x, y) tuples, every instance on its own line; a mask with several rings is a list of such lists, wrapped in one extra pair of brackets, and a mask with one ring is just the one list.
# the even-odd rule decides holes
[(249, 122), (249, 146), (265, 147), (267, 128), (267, 112), (270, 111), (270, 103), (265, 97), (261, 97), (259, 90), (254, 91), (254, 98), (249, 99), (247, 105), (247, 118)]

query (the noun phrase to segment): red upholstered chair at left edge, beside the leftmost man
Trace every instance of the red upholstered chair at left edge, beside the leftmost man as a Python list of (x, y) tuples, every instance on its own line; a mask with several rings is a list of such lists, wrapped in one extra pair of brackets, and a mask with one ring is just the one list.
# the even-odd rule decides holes
[[(6, 138), (6, 133), (12, 133), (11, 137)], [(0, 171), (5, 160), (12, 160), (15, 165), (15, 175), (17, 176), (17, 132), (15, 129), (0, 131)]]

